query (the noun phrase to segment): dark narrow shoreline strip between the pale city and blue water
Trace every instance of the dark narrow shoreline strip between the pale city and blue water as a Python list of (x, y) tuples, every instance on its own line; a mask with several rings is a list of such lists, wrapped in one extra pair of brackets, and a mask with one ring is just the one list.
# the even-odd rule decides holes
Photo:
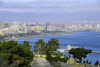
[[(10, 36), (8, 35), (8, 37), (3, 37), (2, 39), (0, 39), (0, 41), (17, 41), (18, 39), (24, 39), (24, 38), (31, 38), (31, 37), (38, 37), (38, 36), (52, 36), (52, 35), (62, 35), (62, 34), (68, 34), (68, 33), (72, 33), (72, 32), (43, 32), (43, 33), (27, 33), (27, 34), (22, 34), (22, 36)], [(19, 35), (19, 34), (18, 34)]]

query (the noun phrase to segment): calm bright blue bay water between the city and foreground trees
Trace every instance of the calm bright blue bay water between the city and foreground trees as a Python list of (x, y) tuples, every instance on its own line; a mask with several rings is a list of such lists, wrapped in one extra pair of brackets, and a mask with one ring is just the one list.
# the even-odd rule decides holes
[[(18, 42), (21, 44), (23, 41), (30, 41), (32, 45), (32, 50), (34, 49), (34, 42), (38, 39), (44, 39), (45, 42), (51, 38), (56, 38), (59, 40), (60, 48), (66, 48), (68, 44), (71, 46), (78, 46), (87, 49), (92, 49), (94, 51), (100, 52), (100, 33), (97, 32), (74, 32), (63, 35), (52, 35), (52, 36), (39, 36), (32, 38), (18, 39)], [(86, 58), (94, 64), (96, 60), (100, 61), (100, 54), (92, 53)]]

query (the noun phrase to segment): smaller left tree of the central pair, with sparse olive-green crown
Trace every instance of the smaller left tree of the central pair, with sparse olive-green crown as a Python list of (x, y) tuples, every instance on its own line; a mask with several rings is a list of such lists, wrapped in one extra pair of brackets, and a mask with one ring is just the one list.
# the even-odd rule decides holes
[(40, 39), (35, 42), (34, 52), (36, 52), (37, 54), (45, 53), (45, 42), (43, 41), (43, 39)]

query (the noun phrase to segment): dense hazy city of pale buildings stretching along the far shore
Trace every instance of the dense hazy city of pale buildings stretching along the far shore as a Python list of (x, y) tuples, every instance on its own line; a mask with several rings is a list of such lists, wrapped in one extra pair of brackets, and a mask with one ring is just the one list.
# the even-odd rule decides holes
[[(15, 37), (25, 37), (29, 35), (42, 35), (46, 33), (70, 33), (75, 31), (94, 31), (100, 32), (100, 24), (55, 24), (55, 23), (36, 23), (36, 22), (0, 22), (1, 39)], [(27, 35), (28, 34), (28, 35)], [(8, 36), (9, 35), (9, 36)]]

